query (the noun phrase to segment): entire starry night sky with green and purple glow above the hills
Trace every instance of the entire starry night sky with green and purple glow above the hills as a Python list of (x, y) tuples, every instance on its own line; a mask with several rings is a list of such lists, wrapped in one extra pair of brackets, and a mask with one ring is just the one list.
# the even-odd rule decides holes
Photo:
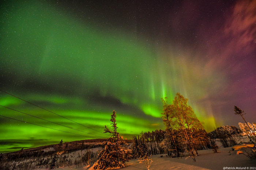
[(54, 113), (0, 91), (2, 153), (108, 138), (113, 110), (124, 138), (164, 129), (161, 98), (176, 92), (207, 131), (238, 127), (234, 105), (256, 122), (256, 0), (3, 1), (0, 11), (0, 90)]

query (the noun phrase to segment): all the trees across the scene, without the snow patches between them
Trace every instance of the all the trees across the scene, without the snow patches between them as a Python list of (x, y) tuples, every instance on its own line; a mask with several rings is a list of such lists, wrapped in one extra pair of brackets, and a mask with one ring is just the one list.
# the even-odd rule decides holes
[[(76, 159), (74, 164), (80, 166), (81, 163), (89, 164), (94, 159), (94, 169), (108, 169), (112, 167), (125, 167), (132, 158), (138, 158), (140, 161), (147, 162), (147, 169), (151, 162), (148, 157), (155, 154), (168, 154), (170, 157), (192, 157), (196, 161), (196, 156), (199, 155), (197, 150), (212, 149), (215, 153), (218, 152), (218, 146), (214, 142), (214, 139), (220, 139), (223, 147), (230, 147), (237, 145), (232, 135), (241, 133), (252, 134), (256, 130), (255, 123), (239, 123), (240, 129), (235, 126), (221, 126), (207, 133), (204, 130), (202, 122), (197, 119), (191, 106), (188, 105), (188, 99), (184, 98), (180, 93), (177, 93), (172, 101), (172, 104), (167, 102), (167, 98), (162, 98), (163, 112), (162, 120), (165, 126), (165, 130), (155, 130), (152, 132), (142, 133), (140, 136), (133, 136), (132, 145), (128, 145), (117, 132), (116, 111), (112, 112), (110, 116), (110, 125), (105, 125), (104, 133), (108, 133), (110, 138), (108, 139), (93, 139), (90, 142), (98, 142), (95, 145), (88, 145), (86, 142), (75, 141), (71, 143), (63, 143), (62, 139), (59, 144), (54, 145), (54, 151), (45, 152), (40, 150), (39, 152), (24, 152), (20, 150), (18, 155), (0, 155), (0, 161), (3, 159), (12, 160), (14, 157), (29, 157), (43, 154), (54, 154), (52, 159), (41, 159), (38, 166), (50, 163), (50, 168), (54, 168), (58, 165), (64, 165), (65, 161), (69, 160), (68, 165), (72, 165), (72, 161), (68, 158), (68, 155), (64, 155), (59, 158), (57, 155), (62, 153), (71, 153), (72, 151), (81, 150), (81, 156), (79, 154), (79, 160)], [(244, 111), (240, 108), (234, 107), (235, 114), (244, 115)], [(244, 117), (242, 116), (244, 119)], [(245, 120), (245, 119), (244, 119)], [(255, 140), (254, 137), (251, 137)], [(253, 142), (253, 141), (252, 141)], [(102, 148), (99, 151), (98, 156), (91, 153), (90, 149), (99, 147)], [(82, 150), (86, 150), (86, 153), (82, 154)], [(57, 154), (56, 154), (57, 151)], [(61, 154), (58, 154), (61, 153)], [(71, 155), (72, 157), (72, 155)], [(39, 160), (39, 159), (38, 159)], [(82, 165), (81, 165), (82, 166)]]

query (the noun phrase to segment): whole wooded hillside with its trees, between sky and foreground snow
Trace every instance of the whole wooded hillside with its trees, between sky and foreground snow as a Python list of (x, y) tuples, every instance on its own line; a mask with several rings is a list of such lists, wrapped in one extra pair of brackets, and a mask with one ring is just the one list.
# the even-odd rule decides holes
[[(0, 155), (0, 169), (54, 169), (57, 167), (93, 166), (94, 169), (126, 167), (130, 159), (138, 159), (150, 167), (151, 155), (167, 154), (172, 158), (191, 157), (196, 161), (198, 150), (211, 149), (218, 153), (216, 139), (222, 147), (238, 145), (234, 135), (249, 135), (256, 130), (255, 123), (239, 123), (235, 126), (221, 126), (209, 133), (204, 130), (196, 114), (189, 106), (188, 99), (177, 93), (172, 104), (167, 98), (162, 99), (162, 119), (165, 130), (144, 132), (133, 136), (133, 140), (124, 140), (118, 133), (116, 111), (110, 116), (110, 127), (105, 125), (104, 133), (108, 139), (91, 139), (84, 141), (63, 142), (38, 147), (37, 149), (21, 149), (14, 153)], [(237, 111), (237, 108), (234, 109)], [(241, 110), (238, 110), (242, 114)], [(256, 142), (249, 135), (251, 143)], [(255, 152), (247, 153), (249, 158), (256, 159)]]

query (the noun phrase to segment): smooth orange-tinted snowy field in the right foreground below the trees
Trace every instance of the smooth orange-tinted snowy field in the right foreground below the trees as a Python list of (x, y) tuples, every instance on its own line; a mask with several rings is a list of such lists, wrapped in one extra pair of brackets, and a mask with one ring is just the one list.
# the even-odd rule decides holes
[[(160, 157), (160, 155), (153, 155), (150, 170), (167, 170), (167, 169), (211, 169), (211, 170), (223, 170), (223, 167), (254, 167), (256, 160), (250, 160), (244, 154), (237, 154), (237, 151), (231, 151), (231, 147), (220, 148), (219, 153), (214, 153), (212, 150), (199, 150), (199, 156), (196, 157), (196, 162), (192, 158), (169, 158), (166, 155)], [(240, 169), (241, 169), (240, 168)], [(228, 168), (226, 168), (228, 169)], [(93, 170), (91, 167), (82, 167), (79, 170)], [(145, 163), (139, 163), (138, 159), (133, 159), (128, 162), (128, 166), (123, 170), (147, 170)]]

